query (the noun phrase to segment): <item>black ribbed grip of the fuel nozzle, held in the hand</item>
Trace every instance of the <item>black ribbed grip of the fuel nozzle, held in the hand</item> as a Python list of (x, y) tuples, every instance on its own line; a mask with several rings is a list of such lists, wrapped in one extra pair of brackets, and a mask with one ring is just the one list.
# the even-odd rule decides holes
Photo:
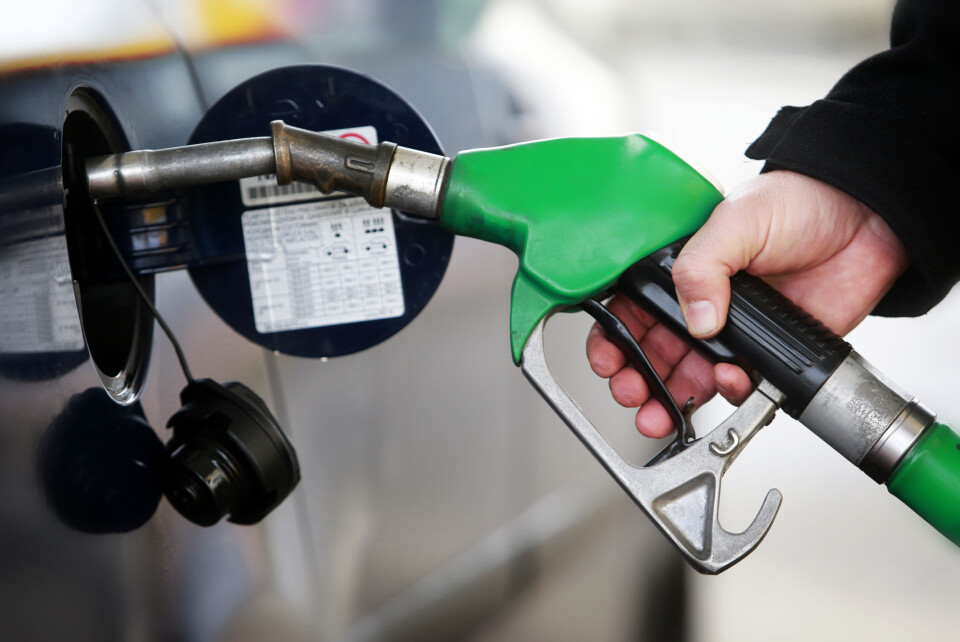
[(850, 344), (764, 281), (745, 272), (730, 279), (730, 310), (713, 339), (687, 334), (671, 277), (683, 241), (654, 252), (630, 267), (618, 288), (660, 323), (713, 362), (756, 371), (786, 395), (783, 409), (798, 417)]

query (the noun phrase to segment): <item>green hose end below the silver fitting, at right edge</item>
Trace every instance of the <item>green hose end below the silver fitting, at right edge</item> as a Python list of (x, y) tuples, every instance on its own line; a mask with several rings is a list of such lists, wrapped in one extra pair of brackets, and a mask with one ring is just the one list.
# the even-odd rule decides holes
[(887, 489), (960, 545), (960, 435), (936, 422), (887, 480)]

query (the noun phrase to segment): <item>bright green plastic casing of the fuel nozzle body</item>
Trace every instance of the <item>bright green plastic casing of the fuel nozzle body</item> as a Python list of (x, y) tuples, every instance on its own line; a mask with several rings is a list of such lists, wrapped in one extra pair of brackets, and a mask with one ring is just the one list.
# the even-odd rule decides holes
[(441, 222), (519, 257), (510, 306), (519, 363), (548, 312), (609, 290), (641, 258), (695, 232), (722, 199), (641, 134), (559, 138), (458, 154)]

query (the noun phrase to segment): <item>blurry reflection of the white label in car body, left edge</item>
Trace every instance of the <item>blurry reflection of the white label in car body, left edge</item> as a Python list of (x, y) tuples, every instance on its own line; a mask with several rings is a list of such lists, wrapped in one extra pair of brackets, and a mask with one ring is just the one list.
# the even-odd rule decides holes
[(83, 345), (66, 238), (0, 248), (0, 352), (67, 352)]

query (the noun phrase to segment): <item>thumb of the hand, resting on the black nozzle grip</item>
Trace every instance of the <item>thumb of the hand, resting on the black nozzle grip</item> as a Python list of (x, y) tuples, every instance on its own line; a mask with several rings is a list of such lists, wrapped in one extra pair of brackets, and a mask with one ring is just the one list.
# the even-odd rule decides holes
[(730, 307), (730, 277), (763, 249), (769, 219), (765, 208), (746, 200), (720, 203), (674, 263), (673, 284), (687, 331), (698, 339), (709, 339), (723, 328)]

